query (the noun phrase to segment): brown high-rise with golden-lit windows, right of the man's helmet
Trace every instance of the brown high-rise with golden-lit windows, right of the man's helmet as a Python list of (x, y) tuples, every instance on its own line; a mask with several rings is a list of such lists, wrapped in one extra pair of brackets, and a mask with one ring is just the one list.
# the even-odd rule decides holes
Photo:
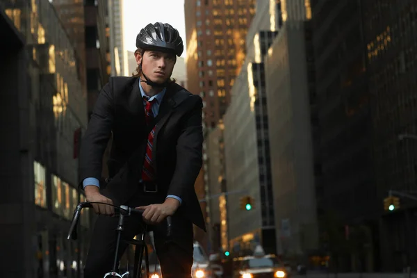
[[(187, 89), (203, 98), (205, 136), (215, 128), (229, 104), (229, 92), (245, 59), (245, 38), (254, 4), (255, 0), (184, 1)], [(200, 199), (204, 199), (208, 188), (207, 163), (204, 154), (204, 166), (195, 183)], [(207, 216), (206, 202), (201, 204)]]

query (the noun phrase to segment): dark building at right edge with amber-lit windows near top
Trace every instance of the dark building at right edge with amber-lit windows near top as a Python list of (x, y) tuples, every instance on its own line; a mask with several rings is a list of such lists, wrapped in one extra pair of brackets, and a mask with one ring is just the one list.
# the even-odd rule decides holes
[[(361, 3), (357, 10), (361, 9), (363, 17), (366, 45), (362, 51), (366, 51), (363, 57), (366, 63), (361, 60), (359, 65), (366, 64), (369, 79), (366, 100), (370, 101), (372, 115), (370, 142), (377, 185), (376, 190), (362, 187), (361, 196), (382, 215), (381, 231), (375, 235), (380, 238), (381, 258), (375, 258), (379, 262), (375, 267), (400, 272), (407, 265), (417, 267), (416, 202), (401, 197), (400, 209), (384, 213), (382, 200), (389, 190), (414, 195), (417, 183), (417, 3), (412, 0)], [(376, 203), (371, 202), (375, 197)]]

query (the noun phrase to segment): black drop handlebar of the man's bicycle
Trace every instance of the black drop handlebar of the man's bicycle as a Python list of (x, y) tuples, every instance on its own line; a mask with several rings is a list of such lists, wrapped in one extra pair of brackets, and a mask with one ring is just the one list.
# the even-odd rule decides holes
[[(131, 214), (142, 215), (144, 210), (138, 208), (130, 208), (129, 206), (115, 206), (114, 204), (107, 204), (102, 202), (81, 202), (79, 203), (74, 211), (74, 216), (72, 217), (72, 223), (70, 227), (70, 231), (68, 232), (67, 240), (70, 238), (76, 240), (76, 225), (78, 224), (79, 217), (81, 214), (81, 209), (83, 208), (92, 208), (92, 204), (106, 204), (108, 206), (113, 206), (115, 208), (115, 213), (120, 213), (122, 215), (130, 216)], [(171, 216), (167, 216), (167, 237), (171, 236), (171, 229), (172, 229), (172, 218)]]

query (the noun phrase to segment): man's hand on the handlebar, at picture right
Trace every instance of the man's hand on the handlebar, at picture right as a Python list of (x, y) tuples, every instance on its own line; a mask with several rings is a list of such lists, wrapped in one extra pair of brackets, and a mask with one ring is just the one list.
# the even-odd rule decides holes
[(144, 209), (142, 214), (143, 220), (147, 224), (161, 223), (167, 216), (174, 215), (179, 207), (179, 201), (174, 198), (167, 198), (163, 204), (150, 204), (149, 206), (138, 206)]

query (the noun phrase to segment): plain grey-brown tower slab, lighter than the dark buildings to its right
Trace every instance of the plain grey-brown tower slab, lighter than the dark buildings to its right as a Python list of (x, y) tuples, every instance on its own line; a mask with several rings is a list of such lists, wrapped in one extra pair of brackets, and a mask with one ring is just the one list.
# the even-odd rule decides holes
[(277, 252), (305, 263), (319, 247), (314, 77), (309, 22), (288, 15), (265, 58), (266, 104)]

